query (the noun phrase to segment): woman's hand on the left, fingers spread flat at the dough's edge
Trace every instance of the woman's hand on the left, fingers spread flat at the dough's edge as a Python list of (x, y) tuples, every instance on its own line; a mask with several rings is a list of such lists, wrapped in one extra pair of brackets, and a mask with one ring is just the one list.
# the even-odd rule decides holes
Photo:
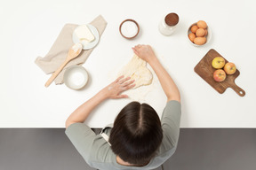
[(124, 75), (118, 77), (116, 81), (113, 81), (109, 84), (106, 88), (102, 89), (102, 92), (108, 98), (126, 98), (127, 95), (121, 95), (123, 91), (127, 89), (132, 89), (135, 84), (133, 83), (134, 80), (129, 81), (131, 77), (124, 78)]

